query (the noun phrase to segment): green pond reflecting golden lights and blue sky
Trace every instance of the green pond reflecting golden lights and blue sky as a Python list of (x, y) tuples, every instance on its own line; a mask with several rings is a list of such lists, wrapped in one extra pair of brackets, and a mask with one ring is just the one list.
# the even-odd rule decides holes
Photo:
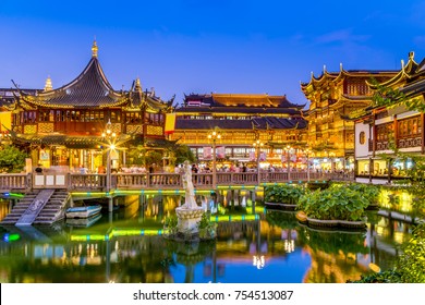
[[(113, 212), (92, 222), (51, 227), (0, 227), (0, 282), (35, 283), (343, 283), (393, 266), (412, 224), (404, 195), (397, 205), (382, 195), (362, 231), (319, 231), (294, 212), (267, 210), (243, 192), (234, 199), (197, 196), (212, 206), (217, 240), (198, 244), (166, 240), (162, 220), (182, 202), (179, 195), (126, 196)], [(393, 200), (391, 198), (391, 200)], [(390, 205), (391, 207), (388, 207)], [(9, 203), (0, 203), (0, 219)], [(390, 212), (391, 211), (391, 212)]]

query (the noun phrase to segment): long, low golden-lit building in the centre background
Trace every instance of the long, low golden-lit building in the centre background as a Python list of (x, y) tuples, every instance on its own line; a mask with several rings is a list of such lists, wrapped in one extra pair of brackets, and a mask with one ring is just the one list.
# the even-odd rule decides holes
[(222, 166), (255, 161), (253, 144), (258, 139), (264, 144), (262, 167), (282, 167), (284, 147), (306, 146), (304, 106), (290, 102), (286, 96), (267, 94), (186, 95), (183, 106), (175, 109), (172, 139), (190, 146), (201, 162), (208, 162), (208, 134), (216, 130), (221, 135), (217, 157)]

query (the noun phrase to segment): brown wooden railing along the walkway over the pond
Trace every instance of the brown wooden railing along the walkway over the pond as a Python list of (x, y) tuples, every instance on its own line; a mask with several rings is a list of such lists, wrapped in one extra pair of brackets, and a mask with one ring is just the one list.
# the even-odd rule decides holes
[[(260, 171), (260, 183), (284, 183), (315, 180), (353, 181), (353, 174)], [(198, 190), (212, 188), (212, 173), (192, 174), (193, 184)], [(178, 173), (112, 173), (111, 190), (181, 190), (182, 174)], [(218, 172), (217, 185), (257, 185), (257, 172)], [(0, 192), (25, 191), (31, 188), (66, 188), (70, 192), (105, 192), (106, 174), (0, 174)]]

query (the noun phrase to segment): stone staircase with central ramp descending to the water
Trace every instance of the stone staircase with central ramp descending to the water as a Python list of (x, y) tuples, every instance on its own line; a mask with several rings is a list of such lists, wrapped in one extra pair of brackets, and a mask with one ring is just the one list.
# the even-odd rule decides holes
[(24, 198), (17, 202), (11, 212), (3, 218), (1, 224), (16, 225), (25, 216), (31, 217), (32, 215), (33, 218), (34, 216), (35, 218), (31, 220), (29, 224), (25, 223), (23, 225), (52, 224), (53, 222), (63, 219), (64, 210), (69, 204), (71, 194), (65, 190), (54, 190), (52, 194), (49, 194), (49, 197), (46, 198), (46, 204), (44, 204), (42, 208), (39, 211), (33, 211), (34, 203), (39, 198), (40, 192), (42, 191), (35, 190), (26, 193)]

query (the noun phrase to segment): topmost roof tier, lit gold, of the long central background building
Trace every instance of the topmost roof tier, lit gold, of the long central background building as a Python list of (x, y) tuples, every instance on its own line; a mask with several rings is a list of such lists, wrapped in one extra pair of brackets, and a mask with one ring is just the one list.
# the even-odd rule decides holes
[[(287, 96), (269, 96), (267, 94), (248, 95), (248, 94), (191, 94), (184, 97), (184, 107), (179, 111), (186, 112), (187, 109), (198, 108), (234, 108), (234, 109), (293, 109), (301, 110), (305, 105), (295, 105), (288, 100)], [(243, 111), (241, 111), (243, 112)]]

